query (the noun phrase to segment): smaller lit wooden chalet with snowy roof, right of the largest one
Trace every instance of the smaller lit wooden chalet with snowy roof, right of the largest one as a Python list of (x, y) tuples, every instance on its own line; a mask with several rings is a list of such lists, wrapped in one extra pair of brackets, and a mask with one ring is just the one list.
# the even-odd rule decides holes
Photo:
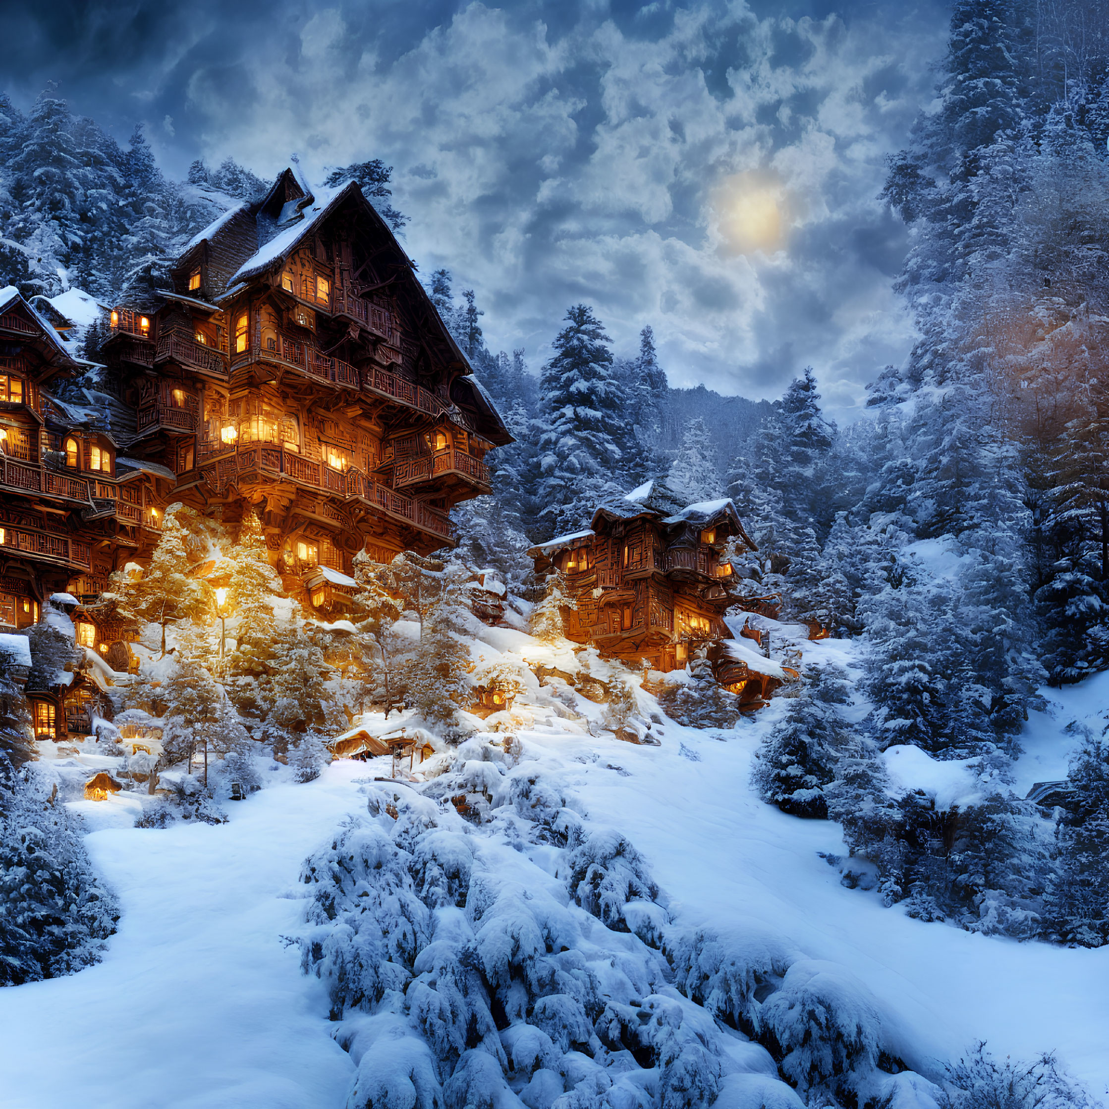
[(681, 505), (664, 481), (649, 481), (601, 505), (588, 529), (529, 550), (536, 573), (559, 570), (577, 600), (566, 635), (602, 654), (654, 670), (685, 667), (691, 650), (732, 638), (724, 612), (729, 540), (755, 550), (729, 499)]

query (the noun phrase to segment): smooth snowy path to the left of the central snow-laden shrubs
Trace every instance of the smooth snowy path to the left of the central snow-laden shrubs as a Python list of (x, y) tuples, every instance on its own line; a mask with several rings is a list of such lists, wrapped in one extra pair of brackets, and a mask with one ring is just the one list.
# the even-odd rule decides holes
[(278, 937), (298, 927), (301, 863), (364, 803), (350, 780), (366, 775), (338, 763), (218, 827), (93, 832), (120, 930), (98, 966), (0, 990), (0, 1106), (339, 1109), (354, 1068)]

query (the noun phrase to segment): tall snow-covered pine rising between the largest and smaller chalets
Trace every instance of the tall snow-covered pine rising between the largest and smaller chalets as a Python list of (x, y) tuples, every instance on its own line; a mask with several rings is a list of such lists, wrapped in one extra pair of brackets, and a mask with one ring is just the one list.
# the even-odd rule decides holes
[(543, 367), (535, 499), (548, 533), (584, 527), (597, 503), (624, 491), (629, 460), (627, 395), (593, 309), (573, 305)]

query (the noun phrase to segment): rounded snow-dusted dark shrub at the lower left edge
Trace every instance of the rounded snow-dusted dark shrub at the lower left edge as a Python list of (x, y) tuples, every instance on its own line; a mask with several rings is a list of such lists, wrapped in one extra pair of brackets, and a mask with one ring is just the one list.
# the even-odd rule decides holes
[(0, 986), (96, 963), (118, 919), (65, 806), (33, 777), (0, 784)]

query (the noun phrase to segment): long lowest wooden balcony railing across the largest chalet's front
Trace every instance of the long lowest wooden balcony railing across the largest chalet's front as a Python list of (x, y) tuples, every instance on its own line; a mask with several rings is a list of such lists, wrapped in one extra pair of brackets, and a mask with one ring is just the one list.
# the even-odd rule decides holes
[(450, 517), (446, 512), (406, 497), (358, 470), (333, 470), (275, 444), (252, 442), (236, 450), (202, 455), (200, 469), (214, 489), (223, 489), (251, 474), (284, 478), (344, 500), (358, 498), (421, 531), (429, 531), (447, 542), (454, 540)]

